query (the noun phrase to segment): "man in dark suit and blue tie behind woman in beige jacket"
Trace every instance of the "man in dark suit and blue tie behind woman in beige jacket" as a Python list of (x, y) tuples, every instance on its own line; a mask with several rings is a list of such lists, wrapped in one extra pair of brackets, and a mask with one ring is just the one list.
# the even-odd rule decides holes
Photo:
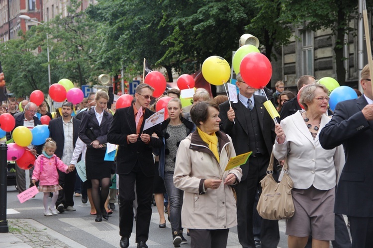
[[(266, 98), (254, 95), (255, 89), (237, 75), (240, 90), (238, 103), (220, 104), (220, 129), (231, 136), (236, 154), (252, 151), (248, 163), (242, 165), (242, 178), (236, 188), (238, 239), (244, 248), (255, 248), (253, 206), (260, 180), (266, 175), (276, 134), (275, 124), (263, 103)], [(235, 123), (233, 122), (235, 121)], [(262, 220), (263, 248), (276, 248), (280, 241), (278, 221)]]

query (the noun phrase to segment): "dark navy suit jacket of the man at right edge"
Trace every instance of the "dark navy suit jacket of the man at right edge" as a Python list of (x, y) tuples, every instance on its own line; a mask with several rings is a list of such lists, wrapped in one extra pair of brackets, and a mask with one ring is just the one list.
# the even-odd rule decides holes
[(338, 183), (334, 212), (353, 217), (373, 217), (373, 121), (362, 109), (364, 96), (337, 104), (332, 120), (319, 134), (324, 149), (343, 144), (346, 164)]

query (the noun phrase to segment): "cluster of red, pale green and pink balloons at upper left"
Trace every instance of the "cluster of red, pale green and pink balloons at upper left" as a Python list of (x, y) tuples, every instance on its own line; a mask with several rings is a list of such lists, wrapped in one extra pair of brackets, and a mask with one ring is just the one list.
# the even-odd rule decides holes
[(48, 93), (52, 100), (56, 102), (63, 102), (67, 99), (74, 105), (81, 103), (84, 98), (83, 91), (80, 88), (75, 88), (73, 82), (68, 79), (61, 79), (58, 83), (53, 83), (49, 87)]

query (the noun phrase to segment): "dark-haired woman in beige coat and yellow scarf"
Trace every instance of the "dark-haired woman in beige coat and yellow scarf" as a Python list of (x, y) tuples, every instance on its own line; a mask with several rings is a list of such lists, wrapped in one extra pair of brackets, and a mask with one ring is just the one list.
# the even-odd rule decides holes
[(190, 110), (197, 130), (183, 140), (176, 156), (175, 186), (184, 190), (182, 223), (191, 248), (225, 248), (229, 228), (237, 225), (231, 185), (242, 176), (239, 167), (225, 170), (236, 153), (231, 138), (219, 131), (219, 107), (198, 102)]

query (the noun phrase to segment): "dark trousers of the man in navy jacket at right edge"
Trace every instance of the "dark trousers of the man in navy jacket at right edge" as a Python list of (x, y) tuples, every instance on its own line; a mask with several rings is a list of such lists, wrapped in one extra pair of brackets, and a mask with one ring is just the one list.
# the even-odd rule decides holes
[(373, 218), (348, 216), (353, 248), (373, 247)]

